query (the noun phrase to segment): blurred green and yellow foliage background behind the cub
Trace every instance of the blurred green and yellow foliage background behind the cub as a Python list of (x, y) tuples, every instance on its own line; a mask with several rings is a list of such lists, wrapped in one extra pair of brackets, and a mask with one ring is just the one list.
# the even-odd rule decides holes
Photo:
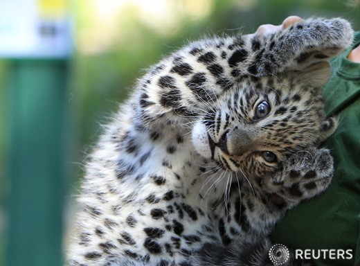
[[(136, 85), (136, 78), (147, 67), (188, 40), (239, 30), (252, 33), (260, 24), (280, 24), (289, 15), (344, 17), (359, 30), (360, 7), (352, 3), (343, 0), (69, 1), (75, 46), (69, 60), (65, 98), (59, 99), (64, 102), (66, 114), (63, 125), (66, 152), (62, 158), (66, 190), (62, 199), (64, 235), (72, 221), (73, 195), (79, 193), (82, 162), (96, 142), (101, 124), (117, 110), (118, 103), (126, 98)], [(0, 266), (6, 261), (4, 247), (9, 225), (6, 206), (11, 206), (8, 125), (12, 113), (8, 99), (12, 64), (11, 59), (0, 60)], [(36, 150), (33, 156), (37, 156)], [(63, 242), (66, 241), (64, 237)]]

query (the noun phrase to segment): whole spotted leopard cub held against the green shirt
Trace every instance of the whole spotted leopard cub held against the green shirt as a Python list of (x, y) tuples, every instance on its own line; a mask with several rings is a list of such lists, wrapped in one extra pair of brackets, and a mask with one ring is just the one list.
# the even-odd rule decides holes
[(69, 265), (209, 265), (211, 247), (267, 247), (283, 213), (330, 184), (320, 87), (351, 42), (348, 21), (309, 19), (152, 67), (87, 163)]

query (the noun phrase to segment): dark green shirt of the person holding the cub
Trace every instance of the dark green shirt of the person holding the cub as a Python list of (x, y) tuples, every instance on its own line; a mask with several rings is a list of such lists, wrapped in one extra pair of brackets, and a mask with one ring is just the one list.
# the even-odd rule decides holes
[[(359, 44), (360, 32), (352, 48)], [(348, 254), (344, 259), (322, 255), (313, 259), (318, 266), (360, 265), (360, 64), (348, 60), (352, 48), (332, 60), (333, 75), (323, 89), (327, 114), (339, 118), (339, 127), (324, 145), (334, 157), (332, 184), (321, 196), (289, 211), (272, 236), (274, 243), (291, 249), (351, 249), (351, 259)]]

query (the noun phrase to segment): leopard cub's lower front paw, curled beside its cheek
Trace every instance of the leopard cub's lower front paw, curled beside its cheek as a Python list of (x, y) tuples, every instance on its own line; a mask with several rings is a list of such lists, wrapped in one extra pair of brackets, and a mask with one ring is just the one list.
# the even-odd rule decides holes
[(267, 180), (267, 188), (275, 204), (287, 203), (292, 208), (303, 199), (322, 193), (332, 180), (334, 170), (330, 151), (326, 149), (303, 150), (292, 154), (282, 171)]

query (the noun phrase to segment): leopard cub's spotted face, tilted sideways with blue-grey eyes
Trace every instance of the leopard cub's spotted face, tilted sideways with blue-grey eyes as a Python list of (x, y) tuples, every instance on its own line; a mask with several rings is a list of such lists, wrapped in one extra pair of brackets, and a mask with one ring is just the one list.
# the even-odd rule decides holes
[(262, 176), (335, 128), (333, 118), (325, 120), (320, 89), (291, 76), (244, 78), (208, 106), (192, 127), (192, 143), (221, 168)]

